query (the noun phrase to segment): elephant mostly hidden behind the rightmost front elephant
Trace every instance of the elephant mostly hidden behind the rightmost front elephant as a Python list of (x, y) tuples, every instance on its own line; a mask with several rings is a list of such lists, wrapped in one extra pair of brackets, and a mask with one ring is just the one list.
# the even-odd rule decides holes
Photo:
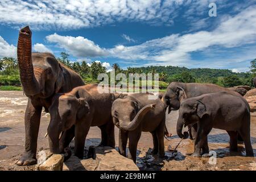
[[(214, 84), (171, 82), (171, 84), (168, 85), (166, 93), (163, 95), (162, 101), (166, 106), (168, 106), (168, 113), (170, 113), (171, 110), (178, 110), (180, 108), (180, 101), (184, 98), (191, 98), (201, 96), (206, 93), (216, 93), (221, 91), (228, 92), (234, 96), (240, 96), (239, 93), (234, 92), (233, 90)], [(196, 131), (197, 125), (195, 124), (191, 130), (189, 130), (189, 137), (191, 139), (195, 139)]]

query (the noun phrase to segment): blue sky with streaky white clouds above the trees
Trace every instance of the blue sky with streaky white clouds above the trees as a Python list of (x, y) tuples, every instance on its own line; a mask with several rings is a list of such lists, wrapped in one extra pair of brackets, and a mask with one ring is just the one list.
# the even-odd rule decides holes
[[(210, 17), (209, 3), (217, 16)], [(0, 1), (0, 57), (16, 57), (29, 25), (35, 52), (67, 52), (109, 70), (174, 65), (249, 71), (256, 58), (256, 0)]]

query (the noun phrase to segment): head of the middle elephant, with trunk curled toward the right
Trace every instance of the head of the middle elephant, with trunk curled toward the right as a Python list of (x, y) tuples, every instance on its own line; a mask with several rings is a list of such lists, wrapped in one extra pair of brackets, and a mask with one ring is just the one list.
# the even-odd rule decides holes
[(140, 107), (137, 101), (130, 100), (129, 98), (118, 98), (112, 105), (112, 117), (115, 126), (119, 129), (132, 131), (135, 130), (144, 115), (151, 109), (155, 108), (155, 104)]

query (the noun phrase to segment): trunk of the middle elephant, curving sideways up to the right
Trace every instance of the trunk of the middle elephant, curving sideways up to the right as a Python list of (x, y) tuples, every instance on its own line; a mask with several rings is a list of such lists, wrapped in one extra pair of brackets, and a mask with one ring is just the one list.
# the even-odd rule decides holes
[(122, 127), (122, 129), (127, 131), (135, 130), (141, 123), (144, 115), (147, 114), (147, 112), (150, 111), (150, 109), (152, 108), (155, 109), (155, 104), (149, 104), (142, 107), (142, 109), (139, 110), (139, 112), (134, 117), (133, 121), (131, 121), (128, 126)]

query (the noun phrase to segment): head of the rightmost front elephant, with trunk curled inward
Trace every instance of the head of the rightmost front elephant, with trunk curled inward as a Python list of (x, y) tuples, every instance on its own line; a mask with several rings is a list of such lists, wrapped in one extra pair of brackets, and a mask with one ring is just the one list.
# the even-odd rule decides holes
[(207, 114), (207, 109), (202, 101), (188, 99), (181, 102), (176, 126), (177, 135), (180, 138), (188, 138), (187, 132), (182, 134), (183, 126), (193, 125), (193, 123), (200, 121), (205, 114)]

